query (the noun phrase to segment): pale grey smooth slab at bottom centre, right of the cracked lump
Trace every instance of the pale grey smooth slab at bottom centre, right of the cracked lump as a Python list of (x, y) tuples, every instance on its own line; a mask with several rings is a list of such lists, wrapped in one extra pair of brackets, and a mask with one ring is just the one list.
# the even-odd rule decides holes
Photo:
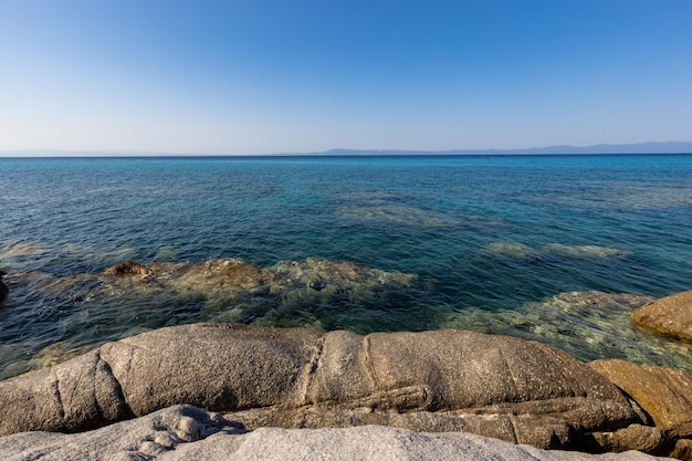
[[(234, 439), (234, 440), (233, 440)], [(212, 437), (181, 446), (161, 461), (226, 460), (419, 460), (419, 461), (644, 461), (653, 457), (630, 451), (585, 454), (515, 446), (463, 432), (419, 433), (381, 426), (345, 429), (262, 428), (243, 436)]]

